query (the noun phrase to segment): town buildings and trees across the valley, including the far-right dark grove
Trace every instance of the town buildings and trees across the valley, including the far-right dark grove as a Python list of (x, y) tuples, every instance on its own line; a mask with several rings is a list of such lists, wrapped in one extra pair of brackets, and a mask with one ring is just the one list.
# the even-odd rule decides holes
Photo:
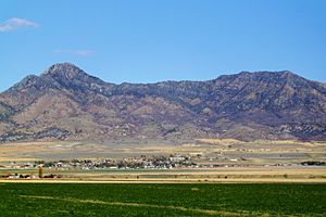
[[(23, 174), (8, 174), (2, 175), (2, 179), (57, 179), (62, 178), (61, 175), (46, 175), (43, 176), (43, 168), (51, 169), (52, 171), (63, 171), (63, 170), (120, 170), (120, 169), (180, 169), (180, 168), (216, 168), (216, 167), (248, 167), (246, 164), (237, 164), (238, 159), (228, 159), (230, 164), (217, 164), (213, 158), (206, 158), (209, 163), (197, 164), (193, 162), (196, 157), (185, 156), (181, 154), (171, 154), (170, 156), (146, 156), (140, 157), (125, 157), (122, 159), (110, 159), (110, 158), (96, 158), (96, 159), (59, 159), (59, 161), (35, 161), (17, 163), (11, 162), (10, 164), (3, 166), (2, 169), (16, 169), (28, 170), (38, 169), (38, 176)], [(241, 159), (246, 161), (246, 159)], [(275, 166), (326, 166), (325, 162), (309, 161), (301, 162), (298, 164), (275, 164), (275, 165), (264, 165), (264, 167)]]

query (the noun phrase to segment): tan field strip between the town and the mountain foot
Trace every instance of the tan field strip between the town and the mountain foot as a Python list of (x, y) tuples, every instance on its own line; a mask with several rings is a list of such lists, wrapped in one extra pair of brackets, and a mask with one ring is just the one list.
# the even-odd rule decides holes
[(326, 161), (326, 142), (199, 139), (193, 141), (122, 140), (92, 142), (25, 142), (0, 144), (0, 165), (36, 159), (139, 157), (183, 154), (198, 164), (274, 165), (303, 161)]

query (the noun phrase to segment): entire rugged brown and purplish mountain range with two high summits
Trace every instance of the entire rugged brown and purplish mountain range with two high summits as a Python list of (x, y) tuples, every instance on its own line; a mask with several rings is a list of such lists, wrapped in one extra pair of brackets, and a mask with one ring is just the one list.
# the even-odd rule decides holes
[(326, 140), (326, 88), (290, 72), (108, 84), (68, 64), (0, 94), (0, 141), (121, 138)]

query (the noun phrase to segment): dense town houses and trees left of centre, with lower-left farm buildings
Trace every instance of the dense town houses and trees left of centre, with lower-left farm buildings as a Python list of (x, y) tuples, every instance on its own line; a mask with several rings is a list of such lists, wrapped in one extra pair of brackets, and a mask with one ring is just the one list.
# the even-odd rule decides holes
[[(60, 161), (35, 161), (17, 163), (11, 162), (5, 169), (34, 169), (34, 168), (48, 168), (53, 170), (99, 170), (99, 169), (173, 169), (173, 168), (195, 168), (199, 167), (188, 156), (179, 154), (171, 156), (152, 156), (147, 157), (129, 157), (123, 159), (60, 159)], [(39, 176), (40, 177), (40, 176)], [(41, 176), (42, 178), (61, 178), (58, 175)], [(34, 175), (4, 175), (0, 178), (12, 179), (33, 179), (37, 178)]]

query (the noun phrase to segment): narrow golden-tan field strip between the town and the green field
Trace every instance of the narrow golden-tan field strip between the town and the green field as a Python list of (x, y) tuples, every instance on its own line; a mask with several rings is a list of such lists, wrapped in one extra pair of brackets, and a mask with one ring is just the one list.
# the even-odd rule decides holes
[[(0, 170), (8, 173), (35, 174), (37, 170)], [(101, 170), (58, 171), (47, 169), (45, 174), (60, 174), (60, 179), (0, 179), (2, 182), (326, 182), (324, 168), (214, 168), (170, 170)]]

